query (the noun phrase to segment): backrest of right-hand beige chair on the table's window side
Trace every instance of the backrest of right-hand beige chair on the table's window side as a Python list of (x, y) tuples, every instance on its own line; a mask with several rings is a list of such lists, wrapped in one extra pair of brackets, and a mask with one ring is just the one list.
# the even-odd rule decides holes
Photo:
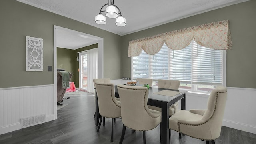
[(179, 80), (158, 80), (158, 88), (167, 88), (172, 90), (178, 90), (180, 86)]

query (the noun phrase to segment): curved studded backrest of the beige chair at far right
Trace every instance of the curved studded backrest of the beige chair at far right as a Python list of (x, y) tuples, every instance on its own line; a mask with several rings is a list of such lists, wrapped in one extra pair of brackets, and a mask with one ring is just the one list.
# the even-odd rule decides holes
[(226, 99), (227, 88), (223, 86), (217, 86), (208, 98), (207, 109), (202, 117), (202, 122), (208, 123), (212, 139), (220, 136)]

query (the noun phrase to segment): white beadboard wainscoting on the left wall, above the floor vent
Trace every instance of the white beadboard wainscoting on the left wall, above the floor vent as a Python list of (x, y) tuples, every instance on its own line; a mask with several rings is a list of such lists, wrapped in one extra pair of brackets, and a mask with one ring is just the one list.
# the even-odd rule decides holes
[(54, 85), (0, 88), (0, 134), (21, 128), (20, 119), (46, 114), (54, 120)]

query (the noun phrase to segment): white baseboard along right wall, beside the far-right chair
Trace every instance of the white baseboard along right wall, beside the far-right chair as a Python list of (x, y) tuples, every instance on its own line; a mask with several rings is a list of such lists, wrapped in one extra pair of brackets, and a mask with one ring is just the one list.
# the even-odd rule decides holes
[(229, 128), (234, 128), (234, 129), (237, 129), (237, 130), (242, 130), (242, 131), (246, 131), (246, 132), (256, 134), (256, 127), (248, 125), (248, 124), (242, 124), (242, 123), (234, 122), (234, 121), (231, 121), (231, 120), (223, 119), (222, 126), (226, 126), (226, 127), (229, 127)]

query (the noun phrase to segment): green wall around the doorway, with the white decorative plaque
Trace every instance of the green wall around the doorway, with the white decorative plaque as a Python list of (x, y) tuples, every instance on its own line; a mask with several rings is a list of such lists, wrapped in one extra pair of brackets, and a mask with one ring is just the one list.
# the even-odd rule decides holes
[[(117, 34), (16, 0), (0, 0), (0, 21), (0, 88), (54, 84), (54, 72), (47, 71), (54, 67), (54, 25), (104, 38), (104, 78), (122, 77)], [(26, 71), (26, 36), (44, 40), (42, 72)]]

